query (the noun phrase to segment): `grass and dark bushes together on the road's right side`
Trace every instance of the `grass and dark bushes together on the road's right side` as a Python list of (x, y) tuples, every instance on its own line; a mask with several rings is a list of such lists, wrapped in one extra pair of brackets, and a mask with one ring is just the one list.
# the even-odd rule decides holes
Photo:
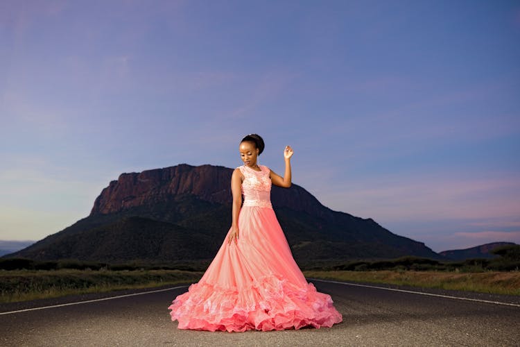
[(494, 259), (440, 262), (420, 257), (321, 264), (306, 277), (412, 287), (520, 295), (520, 246), (503, 246)]

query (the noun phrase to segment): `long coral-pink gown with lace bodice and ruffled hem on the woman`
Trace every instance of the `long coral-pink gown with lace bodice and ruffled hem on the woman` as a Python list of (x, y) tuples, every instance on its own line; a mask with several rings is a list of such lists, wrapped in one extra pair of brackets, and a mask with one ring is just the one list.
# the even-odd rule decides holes
[(270, 170), (244, 176), (239, 239), (222, 246), (199, 282), (168, 307), (179, 329), (284, 330), (331, 327), (343, 320), (329, 294), (306, 282), (270, 202)]

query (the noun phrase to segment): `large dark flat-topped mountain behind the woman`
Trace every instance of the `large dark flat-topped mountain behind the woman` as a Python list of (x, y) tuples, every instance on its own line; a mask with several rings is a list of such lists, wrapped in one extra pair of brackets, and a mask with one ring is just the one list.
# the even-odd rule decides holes
[[(88, 217), (8, 257), (210, 260), (231, 226), (232, 171), (180, 164), (121, 174), (96, 198)], [(324, 207), (298, 185), (272, 187), (271, 200), (297, 261), (440, 257), (373, 219)]]

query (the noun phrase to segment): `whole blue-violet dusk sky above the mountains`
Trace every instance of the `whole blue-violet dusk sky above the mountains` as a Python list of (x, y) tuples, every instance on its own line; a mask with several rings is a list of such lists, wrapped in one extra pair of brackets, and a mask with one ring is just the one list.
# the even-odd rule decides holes
[(520, 243), (520, 2), (0, 1), (0, 239), (123, 172), (238, 167), (249, 133), (433, 251)]

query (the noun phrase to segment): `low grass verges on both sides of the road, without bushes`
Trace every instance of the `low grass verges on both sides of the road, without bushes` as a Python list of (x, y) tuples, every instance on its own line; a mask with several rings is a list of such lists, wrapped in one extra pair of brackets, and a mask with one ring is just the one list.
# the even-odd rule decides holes
[[(0, 271), (0, 303), (119, 289), (152, 288), (200, 280), (202, 271), (12, 270)], [(519, 271), (304, 271), (307, 278), (520, 295)]]

